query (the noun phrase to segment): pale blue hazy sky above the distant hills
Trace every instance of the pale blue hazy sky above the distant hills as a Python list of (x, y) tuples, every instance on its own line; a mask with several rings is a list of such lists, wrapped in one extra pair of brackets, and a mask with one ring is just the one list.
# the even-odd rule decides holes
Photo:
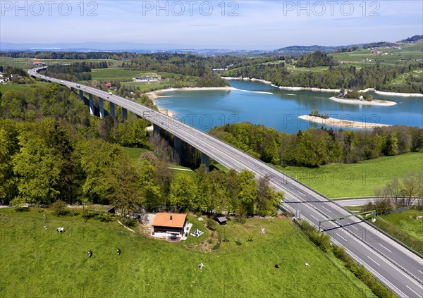
[(0, 44), (259, 49), (423, 35), (423, 1), (4, 1)]

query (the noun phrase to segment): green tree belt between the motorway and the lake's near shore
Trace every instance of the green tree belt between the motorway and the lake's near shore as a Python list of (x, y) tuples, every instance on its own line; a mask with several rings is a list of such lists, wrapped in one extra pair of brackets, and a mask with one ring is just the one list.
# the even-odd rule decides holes
[(209, 133), (266, 163), (280, 166), (357, 163), (423, 151), (423, 129), (404, 125), (372, 131), (309, 128), (289, 135), (264, 125), (235, 123), (213, 128)]

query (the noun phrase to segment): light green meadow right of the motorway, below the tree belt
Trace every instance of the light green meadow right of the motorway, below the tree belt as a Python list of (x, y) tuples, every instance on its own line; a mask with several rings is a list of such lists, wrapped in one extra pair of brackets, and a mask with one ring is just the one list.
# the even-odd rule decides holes
[(326, 197), (362, 197), (374, 195), (393, 178), (422, 171), (423, 153), (381, 157), (360, 163), (332, 163), (320, 168), (286, 167), (284, 173), (297, 178)]

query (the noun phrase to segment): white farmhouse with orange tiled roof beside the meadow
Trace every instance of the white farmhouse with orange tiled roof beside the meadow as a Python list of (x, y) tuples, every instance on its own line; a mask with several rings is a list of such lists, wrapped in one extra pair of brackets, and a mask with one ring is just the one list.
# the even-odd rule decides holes
[(155, 237), (168, 240), (180, 240), (189, 230), (187, 215), (179, 213), (157, 213), (152, 227)]

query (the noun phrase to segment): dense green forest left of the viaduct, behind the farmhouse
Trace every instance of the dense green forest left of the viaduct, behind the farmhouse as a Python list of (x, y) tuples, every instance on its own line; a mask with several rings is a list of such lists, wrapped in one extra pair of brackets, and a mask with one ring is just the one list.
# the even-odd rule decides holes
[[(274, 215), (283, 194), (252, 172), (191, 175), (169, 170), (173, 149), (149, 136), (149, 123), (134, 115), (123, 122), (90, 117), (66, 87), (50, 84), (0, 97), (0, 201), (114, 204), (135, 210)], [(133, 161), (123, 151), (146, 151)]]

